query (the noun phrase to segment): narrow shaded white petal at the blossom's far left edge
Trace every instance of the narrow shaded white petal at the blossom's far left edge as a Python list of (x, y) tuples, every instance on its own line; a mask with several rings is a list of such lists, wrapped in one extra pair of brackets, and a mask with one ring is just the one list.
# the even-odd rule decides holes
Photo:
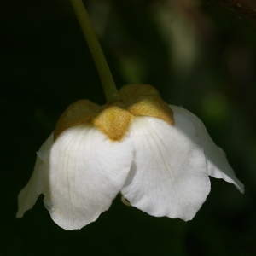
[(36, 165), (32, 173), (32, 177), (26, 184), (26, 187), (20, 191), (18, 195), (18, 212), (17, 218), (22, 218), (24, 212), (31, 209), (38, 199), (38, 196), (43, 193), (44, 184), (47, 180), (48, 172), (47, 165), (44, 163), (45, 158), (49, 155), (49, 149), (53, 143), (53, 134), (51, 134), (42, 147), (37, 152)]

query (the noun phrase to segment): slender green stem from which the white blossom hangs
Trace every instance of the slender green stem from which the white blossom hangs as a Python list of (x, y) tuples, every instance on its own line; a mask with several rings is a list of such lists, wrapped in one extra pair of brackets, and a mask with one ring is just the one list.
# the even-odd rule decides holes
[(119, 93), (113, 81), (113, 76), (108, 67), (108, 63), (103, 54), (101, 44), (96, 37), (96, 32), (91, 25), (89, 15), (84, 8), (82, 0), (70, 0), (73, 5), (74, 12), (79, 20), (84, 38), (90, 49), (90, 54), (95, 62), (96, 69), (102, 81), (102, 87), (108, 104), (119, 102)]

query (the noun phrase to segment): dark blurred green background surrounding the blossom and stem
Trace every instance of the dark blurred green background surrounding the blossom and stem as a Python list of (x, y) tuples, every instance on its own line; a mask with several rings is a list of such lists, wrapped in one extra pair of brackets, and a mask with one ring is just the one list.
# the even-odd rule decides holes
[(256, 255), (256, 34), (232, 12), (172, 1), (84, 1), (116, 84), (154, 85), (199, 116), (245, 194), (212, 180), (192, 221), (154, 218), (120, 202), (82, 230), (62, 230), (43, 195), (16, 219), (35, 152), (67, 106), (104, 95), (64, 0), (0, 3), (0, 255)]

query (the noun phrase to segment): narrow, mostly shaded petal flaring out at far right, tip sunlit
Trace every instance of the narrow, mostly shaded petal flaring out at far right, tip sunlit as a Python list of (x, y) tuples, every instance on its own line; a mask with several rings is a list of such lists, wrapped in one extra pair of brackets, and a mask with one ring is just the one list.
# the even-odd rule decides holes
[(184, 108), (172, 105), (170, 107), (174, 113), (183, 114), (195, 125), (201, 146), (204, 148), (206, 154), (208, 174), (212, 177), (223, 178), (228, 183), (235, 184), (236, 188), (243, 193), (243, 184), (236, 178), (235, 172), (232, 170), (223, 150), (218, 148), (212, 141), (201, 119), (198, 119), (195, 114)]

